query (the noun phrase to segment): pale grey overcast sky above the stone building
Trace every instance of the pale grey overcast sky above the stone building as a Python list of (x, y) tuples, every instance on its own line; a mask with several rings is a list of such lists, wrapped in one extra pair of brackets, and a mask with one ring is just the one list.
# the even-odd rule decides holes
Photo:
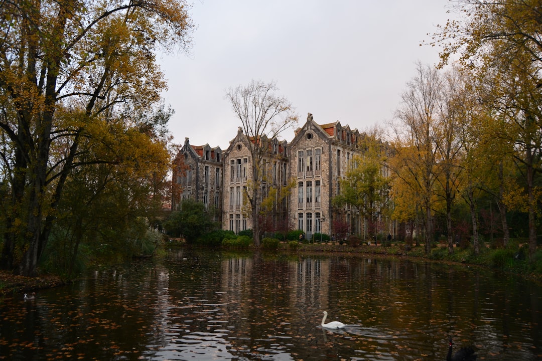
[[(436, 64), (420, 47), (445, 24), (448, 0), (195, 0), (189, 55), (163, 55), (163, 96), (175, 109), (175, 142), (226, 149), (241, 125), (225, 99), (229, 87), (276, 81), (301, 126), (339, 120), (360, 132), (384, 124), (415, 74)], [(288, 142), (293, 130), (281, 137)]]

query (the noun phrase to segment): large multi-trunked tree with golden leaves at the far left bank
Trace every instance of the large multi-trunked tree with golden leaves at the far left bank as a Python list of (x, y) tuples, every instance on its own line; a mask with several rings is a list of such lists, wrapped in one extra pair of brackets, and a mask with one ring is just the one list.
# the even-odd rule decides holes
[(82, 161), (83, 141), (144, 133), (137, 116), (165, 87), (154, 49), (186, 49), (187, 11), (184, 0), (2, 2), (2, 268), (35, 275), (72, 171), (123, 161)]

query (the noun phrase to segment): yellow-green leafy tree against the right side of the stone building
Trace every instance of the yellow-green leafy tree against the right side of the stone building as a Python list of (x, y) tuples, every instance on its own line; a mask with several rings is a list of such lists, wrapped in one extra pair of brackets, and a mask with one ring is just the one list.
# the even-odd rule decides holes
[(365, 152), (352, 160), (346, 177), (339, 180), (341, 192), (333, 198), (333, 205), (350, 204), (369, 222), (370, 237), (376, 237), (376, 219), (388, 206), (389, 180), (384, 175), (386, 146), (374, 134), (366, 135), (362, 148)]

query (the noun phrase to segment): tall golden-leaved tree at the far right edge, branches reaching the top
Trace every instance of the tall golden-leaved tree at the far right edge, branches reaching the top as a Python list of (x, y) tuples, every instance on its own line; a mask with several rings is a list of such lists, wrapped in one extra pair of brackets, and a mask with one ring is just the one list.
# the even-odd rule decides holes
[[(531, 257), (537, 246), (536, 224), (542, 139), (542, 16), (539, 1), (457, 1), (464, 14), (434, 35), (441, 44), (442, 62), (453, 54), (481, 76), (493, 78), (492, 96), (486, 100), (506, 127), (499, 135), (513, 143), (513, 159), (525, 182)], [(519, 192), (516, 193), (520, 195)], [(514, 197), (517, 199), (517, 197)]]

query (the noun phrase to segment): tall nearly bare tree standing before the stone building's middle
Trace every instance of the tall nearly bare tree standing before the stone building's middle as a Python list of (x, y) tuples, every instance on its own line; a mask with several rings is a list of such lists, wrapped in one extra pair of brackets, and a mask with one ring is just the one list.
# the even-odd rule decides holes
[(243, 133), (250, 140), (251, 180), (246, 191), (253, 223), (254, 245), (260, 246), (261, 182), (264, 177), (264, 160), (270, 149), (270, 140), (297, 123), (292, 104), (276, 95), (279, 89), (275, 82), (251, 81), (248, 86), (229, 88), (226, 98), (241, 121)]

